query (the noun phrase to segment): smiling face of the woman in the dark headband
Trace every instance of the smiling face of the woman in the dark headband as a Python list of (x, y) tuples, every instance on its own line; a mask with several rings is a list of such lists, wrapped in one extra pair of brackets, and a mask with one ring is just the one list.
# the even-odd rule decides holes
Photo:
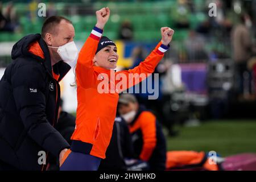
[(117, 47), (106, 46), (96, 53), (93, 63), (97, 67), (114, 69), (117, 67), (118, 57)]

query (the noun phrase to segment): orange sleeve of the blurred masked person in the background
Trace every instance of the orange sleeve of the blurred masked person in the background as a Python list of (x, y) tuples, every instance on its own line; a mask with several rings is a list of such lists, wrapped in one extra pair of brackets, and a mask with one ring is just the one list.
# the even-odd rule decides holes
[(149, 160), (156, 146), (156, 117), (149, 111), (141, 114), (141, 130), (143, 138), (143, 146), (139, 158)]

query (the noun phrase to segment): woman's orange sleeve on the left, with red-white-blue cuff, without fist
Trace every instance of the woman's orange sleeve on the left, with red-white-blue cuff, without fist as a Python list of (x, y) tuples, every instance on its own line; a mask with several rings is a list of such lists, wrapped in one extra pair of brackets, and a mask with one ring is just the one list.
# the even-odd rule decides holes
[(93, 58), (102, 33), (100, 28), (94, 27), (79, 52), (76, 64), (76, 82), (83, 88), (88, 88), (97, 81), (97, 75), (93, 69)]

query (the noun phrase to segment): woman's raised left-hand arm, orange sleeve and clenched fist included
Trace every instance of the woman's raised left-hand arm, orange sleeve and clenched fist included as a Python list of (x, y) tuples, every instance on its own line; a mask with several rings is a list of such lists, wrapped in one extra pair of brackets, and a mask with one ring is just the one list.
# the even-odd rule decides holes
[(110, 10), (108, 7), (96, 11), (96, 26), (79, 52), (76, 65), (76, 82), (84, 88), (92, 86), (97, 81), (97, 76), (93, 70), (93, 59), (103, 33), (103, 28), (106, 22), (108, 22), (109, 15)]

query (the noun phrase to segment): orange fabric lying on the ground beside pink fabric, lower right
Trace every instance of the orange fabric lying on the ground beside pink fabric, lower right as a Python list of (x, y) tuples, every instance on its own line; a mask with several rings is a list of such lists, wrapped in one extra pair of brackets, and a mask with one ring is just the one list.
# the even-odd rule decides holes
[[(166, 168), (199, 164), (205, 156), (205, 152), (196, 151), (168, 151), (166, 159)], [(203, 167), (210, 171), (217, 171), (217, 164), (210, 164), (209, 159), (204, 163)]]

